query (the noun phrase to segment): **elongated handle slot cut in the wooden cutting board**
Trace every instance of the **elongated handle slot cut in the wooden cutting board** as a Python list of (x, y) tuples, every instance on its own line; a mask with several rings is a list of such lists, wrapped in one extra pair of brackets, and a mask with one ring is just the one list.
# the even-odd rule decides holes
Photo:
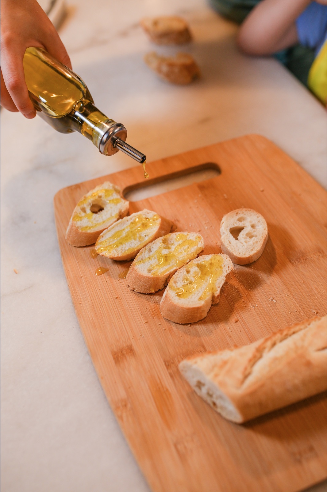
[(175, 173), (164, 174), (153, 179), (151, 179), (150, 167), (149, 174), (150, 179), (148, 181), (132, 184), (123, 189), (123, 195), (126, 200), (130, 202), (145, 200), (146, 198), (161, 195), (167, 191), (217, 178), (221, 174), (221, 171), (216, 162), (204, 162), (198, 166), (189, 167)]

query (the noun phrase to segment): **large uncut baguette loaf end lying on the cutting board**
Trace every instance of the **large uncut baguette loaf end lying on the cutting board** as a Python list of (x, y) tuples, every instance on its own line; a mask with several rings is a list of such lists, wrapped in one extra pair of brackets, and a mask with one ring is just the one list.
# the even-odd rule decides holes
[(327, 390), (327, 316), (185, 359), (179, 369), (223, 417), (245, 422)]

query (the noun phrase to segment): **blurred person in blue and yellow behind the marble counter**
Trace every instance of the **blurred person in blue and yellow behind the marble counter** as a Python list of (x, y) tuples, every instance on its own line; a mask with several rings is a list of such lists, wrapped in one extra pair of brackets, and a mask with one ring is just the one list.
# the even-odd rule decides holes
[(274, 55), (327, 104), (327, 0), (210, 0), (248, 55)]

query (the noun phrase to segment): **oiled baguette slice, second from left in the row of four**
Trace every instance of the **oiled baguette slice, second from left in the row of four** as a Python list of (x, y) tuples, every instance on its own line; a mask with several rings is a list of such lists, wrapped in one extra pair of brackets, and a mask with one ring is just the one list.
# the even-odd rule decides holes
[(140, 249), (170, 231), (172, 222), (151, 210), (124, 217), (98, 238), (95, 250), (112, 260), (131, 260)]

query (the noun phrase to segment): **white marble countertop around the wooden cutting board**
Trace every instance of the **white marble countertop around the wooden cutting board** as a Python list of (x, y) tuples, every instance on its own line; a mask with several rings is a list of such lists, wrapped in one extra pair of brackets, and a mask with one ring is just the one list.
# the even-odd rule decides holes
[[(75, 71), (148, 161), (260, 133), (327, 186), (325, 109), (274, 60), (239, 54), (236, 27), (205, 0), (66, 3), (60, 35)], [(186, 50), (202, 71), (189, 87), (142, 62), (154, 47), (138, 20), (174, 13), (191, 24)], [(1, 120), (1, 491), (148, 491), (84, 345), (52, 203), (64, 186), (135, 162), (38, 117), (1, 110)]]

